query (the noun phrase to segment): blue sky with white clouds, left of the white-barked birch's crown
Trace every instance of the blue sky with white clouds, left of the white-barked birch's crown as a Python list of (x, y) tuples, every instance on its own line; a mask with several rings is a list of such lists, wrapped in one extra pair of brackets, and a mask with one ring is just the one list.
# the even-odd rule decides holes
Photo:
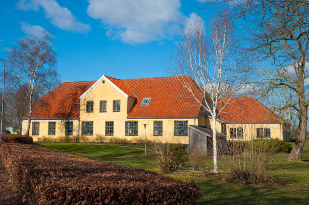
[(168, 76), (182, 29), (213, 14), (201, 7), (193, 0), (1, 1), (0, 58), (20, 38), (46, 30), (62, 81)]

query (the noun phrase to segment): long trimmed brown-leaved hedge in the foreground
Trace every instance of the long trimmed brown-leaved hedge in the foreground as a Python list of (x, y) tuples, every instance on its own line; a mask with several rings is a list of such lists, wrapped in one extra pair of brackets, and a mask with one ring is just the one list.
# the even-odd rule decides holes
[(7, 173), (32, 204), (194, 204), (199, 187), (39, 145), (3, 143)]

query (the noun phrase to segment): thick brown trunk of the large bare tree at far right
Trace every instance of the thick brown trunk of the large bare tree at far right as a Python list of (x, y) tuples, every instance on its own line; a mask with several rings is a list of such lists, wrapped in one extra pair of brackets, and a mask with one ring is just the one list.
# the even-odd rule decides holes
[(305, 97), (304, 97), (304, 84), (303, 79), (300, 79), (302, 82), (298, 83), (298, 128), (297, 128), (297, 139), (294, 144), (291, 153), (288, 157), (289, 161), (301, 161), (300, 153), (303, 148), (303, 145), (306, 140), (306, 126), (307, 126), (307, 107), (305, 105)]

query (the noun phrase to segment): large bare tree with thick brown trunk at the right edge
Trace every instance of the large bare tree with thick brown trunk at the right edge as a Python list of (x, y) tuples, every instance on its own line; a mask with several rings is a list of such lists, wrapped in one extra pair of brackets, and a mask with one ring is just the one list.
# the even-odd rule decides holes
[(297, 140), (288, 157), (300, 161), (307, 127), (309, 77), (309, 1), (307, 0), (234, 0), (228, 2), (230, 17), (243, 20), (249, 51), (256, 54), (262, 88), (268, 91), (283, 87), (294, 92), (295, 101), (286, 101), (283, 109), (297, 113)]

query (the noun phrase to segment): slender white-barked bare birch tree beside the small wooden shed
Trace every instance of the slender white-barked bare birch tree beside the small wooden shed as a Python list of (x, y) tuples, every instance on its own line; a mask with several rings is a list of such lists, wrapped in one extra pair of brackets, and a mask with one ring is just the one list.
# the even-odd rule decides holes
[[(203, 22), (197, 20), (183, 31), (179, 48), (171, 60), (173, 73), (180, 75), (180, 82), (192, 94), (202, 112), (213, 119), (214, 173), (218, 173), (216, 122), (225, 106), (232, 103), (226, 100), (222, 105), (220, 99), (232, 96), (245, 77), (238, 65), (240, 58), (236, 58), (235, 52), (239, 52), (234, 49), (236, 44), (233, 25), (224, 17), (215, 18), (208, 33)], [(185, 75), (196, 82), (198, 93), (184, 79)]]

